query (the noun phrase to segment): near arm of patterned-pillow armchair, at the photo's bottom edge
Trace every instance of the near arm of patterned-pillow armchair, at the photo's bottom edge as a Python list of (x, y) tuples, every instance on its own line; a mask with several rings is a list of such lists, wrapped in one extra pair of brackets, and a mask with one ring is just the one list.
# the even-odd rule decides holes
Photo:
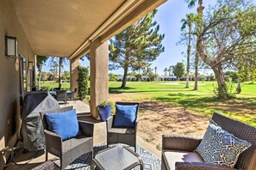
[(224, 167), (221, 165), (202, 163), (202, 162), (176, 162), (176, 170), (210, 170), (210, 169), (221, 169), (221, 170), (231, 170), (234, 168)]

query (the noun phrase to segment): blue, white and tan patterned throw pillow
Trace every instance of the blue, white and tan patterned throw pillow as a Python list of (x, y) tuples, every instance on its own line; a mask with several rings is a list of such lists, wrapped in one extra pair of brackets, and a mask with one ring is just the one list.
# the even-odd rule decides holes
[(251, 145), (222, 130), (222, 127), (210, 119), (203, 140), (195, 151), (201, 155), (205, 163), (234, 167), (239, 155)]

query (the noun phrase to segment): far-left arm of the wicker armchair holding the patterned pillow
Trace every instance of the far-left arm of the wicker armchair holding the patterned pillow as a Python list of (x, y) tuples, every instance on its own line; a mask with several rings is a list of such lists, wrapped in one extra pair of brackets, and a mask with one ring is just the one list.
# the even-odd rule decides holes
[(202, 139), (181, 135), (163, 135), (162, 149), (180, 150), (192, 152), (197, 149)]

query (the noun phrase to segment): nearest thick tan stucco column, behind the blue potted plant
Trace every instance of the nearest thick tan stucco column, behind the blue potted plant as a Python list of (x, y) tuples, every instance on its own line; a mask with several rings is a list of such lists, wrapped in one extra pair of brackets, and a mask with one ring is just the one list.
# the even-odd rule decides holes
[(90, 45), (91, 116), (98, 117), (97, 106), (109, 97), (109, 45), (95, 39)]

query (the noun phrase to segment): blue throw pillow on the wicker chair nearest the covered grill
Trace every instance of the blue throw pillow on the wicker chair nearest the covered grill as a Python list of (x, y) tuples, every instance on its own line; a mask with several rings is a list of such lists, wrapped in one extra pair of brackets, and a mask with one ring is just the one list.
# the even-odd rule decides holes
[(76, 110), (59, 113), (46, 113), (48, 130), (53, 131), (65, 141), (81, 135)]

